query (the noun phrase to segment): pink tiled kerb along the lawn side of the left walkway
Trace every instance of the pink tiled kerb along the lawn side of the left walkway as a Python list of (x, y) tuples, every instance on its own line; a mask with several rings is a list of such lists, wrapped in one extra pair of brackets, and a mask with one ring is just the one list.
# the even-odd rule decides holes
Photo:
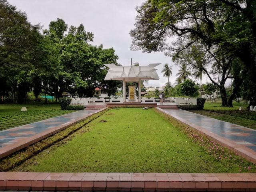
[[(107, 108), (107, 107), (106, 107)], [(87, 116), (85, 117), (82, 117), (82, 118), (77, 118), (75, 119), (74, 121), (71, 121), (71, 122), (68, 122), (68, 123), (65, 123), (65, 124), (62, 124), (60, 126), (56, 126), (54, 128), (51, 128), (49, 130), (46, 130), (44, 132), (41, 132), (41, 133), (38, 133), (34, 136), (31, 136), (27, 139), (24, 139), (20, 142), (18, 142), (17, 144), (13, 144), (13, 145), (9, 145), (9, 146), (5, 146), (5, 147), (2, 147), (0, 148), (0, 159), (1, 158), (4, 158), (14, 152), (17, 152), (23, 148), (26, 148), (27, 146), (30, 146), (31, 144), (34, 144), (40, 140), (43, 140), (44, 138), (47, 138), (57, 132), (60, 132), (61, 130), (64, 130), (65, 128), (69, 127), (69, 126), (72, 126), (82, 120), (85, 120), (86, 118), (98, 113), (98, 112), (101, 112), (103, 110), (105, 110), (106, 108), (102, 108), (100, 110), (95, 110), (95, 112), (91, 113), (91, 114), (88, 114)]]

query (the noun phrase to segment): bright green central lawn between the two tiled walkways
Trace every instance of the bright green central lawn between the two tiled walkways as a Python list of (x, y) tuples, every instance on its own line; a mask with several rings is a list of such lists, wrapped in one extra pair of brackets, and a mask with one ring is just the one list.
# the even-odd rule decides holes
[(249, 172), (255, 172), (252, 163), (200, 139), (232, 160), (216, 158), (182, 126), (154, 109), (111, 109), (12, 171), (194, 173), (239, 172), (240, 166), (252, 166)]

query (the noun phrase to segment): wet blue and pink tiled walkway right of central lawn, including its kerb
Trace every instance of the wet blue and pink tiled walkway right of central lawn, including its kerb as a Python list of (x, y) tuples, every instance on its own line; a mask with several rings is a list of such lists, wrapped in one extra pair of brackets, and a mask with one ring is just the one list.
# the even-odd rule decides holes
[(208, 135), (222, 146), (256, 163), (256, 130), (185, 110), (158, 110)]

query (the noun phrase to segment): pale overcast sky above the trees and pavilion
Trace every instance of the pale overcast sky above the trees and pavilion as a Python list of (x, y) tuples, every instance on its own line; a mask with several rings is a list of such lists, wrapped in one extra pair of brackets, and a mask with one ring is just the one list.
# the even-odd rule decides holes
[[(134, 28), (137, 12), (144, 0), (8, 0), (22, 12), (26, 12), (29, 22), (40, 23), (43, 28), (48, 28), (50, 21), (62, 18), (68, 26), (83, 24), (86, 31), (94, 33), (92, 44), (103, 44), (104, 48), (113, 47), (118, 55), (118, 63), (123, 66), (139, 62), (141, 66), (149, 63), (161, 63), (156, 67), (160, 80), (150, 80), (148, 86), (164, 86), (168, 81), (162, 76), (161, 69), (165, 63), (172, 65), (170, 82), (176, 80), (178, 66), (174, 65), (170, 57), (162, 52), (142, 53), (131, 51), (132, 39), (129, 35)], [(210, 82), (204, 76), (203, 82)]]

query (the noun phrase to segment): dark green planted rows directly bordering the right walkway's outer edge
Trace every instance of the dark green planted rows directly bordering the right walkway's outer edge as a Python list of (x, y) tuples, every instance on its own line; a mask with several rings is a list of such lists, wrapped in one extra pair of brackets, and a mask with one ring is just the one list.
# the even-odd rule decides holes
[(248, 128), (256, 129), (256, 113), (253, 111), (190, 111), (218, 120), (238, 124)]

